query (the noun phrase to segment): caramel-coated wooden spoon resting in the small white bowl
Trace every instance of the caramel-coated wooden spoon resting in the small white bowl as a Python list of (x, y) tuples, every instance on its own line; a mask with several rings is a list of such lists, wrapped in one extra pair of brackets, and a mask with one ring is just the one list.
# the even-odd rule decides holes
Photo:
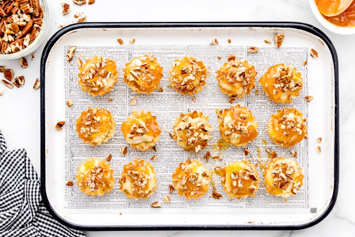
[(354, 0), (316, 0), (318, 10), (324, 16), (337, 16), (345, 11)]

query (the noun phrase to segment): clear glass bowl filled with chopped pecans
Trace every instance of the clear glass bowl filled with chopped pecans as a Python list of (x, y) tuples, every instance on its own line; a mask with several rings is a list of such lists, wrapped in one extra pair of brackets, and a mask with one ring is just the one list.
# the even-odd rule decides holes
[(49, 28), (45, 0), (0, 0), (0, 59), (26, 56), (43, 43)]

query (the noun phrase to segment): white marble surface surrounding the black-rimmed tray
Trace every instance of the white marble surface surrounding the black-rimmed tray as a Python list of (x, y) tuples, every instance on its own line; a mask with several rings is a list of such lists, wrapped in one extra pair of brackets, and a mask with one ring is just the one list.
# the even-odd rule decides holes
[[(47, 39), (59, 25), (76, 21), (73, 15), (83, 12), (87, 21), (93, 22), (179, 22), (179, 21), (295, 21), (309, 23), (320, 28), (331, 39), (339, 56), (339, 103), (340, 103), (340, 185), (337, 203), (333, 211), (316, 226), (299, 231), (130, 231), (87, 232), (87, 236), (355, 236), (355, 205), (351, 202), (355, 192), (350, 186), (352, 176), (353, 137), (355, 127), (351, 125), (355, 112), (353, 88), (355, 63), (355, 36), (340, 36), (327, 31), (312, 15), (308, 0), (268, 1), (121, 1), (96, 0), (93, 5), (78, 6), (71, 3), (71, 12), (61, 14), (62, 0), (48, 0), (50, 29)], [(151, 3), (151, 2), (154, 2)], [(16, 60), (0, 60), (0, 65), (12, 68), (15, 75), (24, 75), (24, 88), (9, 90), (1, 85), (5, 93), (0, 97), (0, 130), (5, 136), (8, 149), (26, 148), (31, 161), (40, 171), (40, 91), (32, 86), (39, 77), (40, 55), (43, 43), (34, 60), (27, 56), (27, 69), (21, 69)], [(322, 80), (321, 78), (318, 80)], [(353, 91), (353, 92), (352, 92)]]

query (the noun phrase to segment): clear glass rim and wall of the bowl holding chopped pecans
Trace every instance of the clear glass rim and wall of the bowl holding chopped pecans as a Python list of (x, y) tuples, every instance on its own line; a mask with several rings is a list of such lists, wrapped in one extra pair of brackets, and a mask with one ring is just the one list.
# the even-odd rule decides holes
[(36, 50), (39, 47), (39, 45), (43, 43), (45, 37), (47, 36), (48, 28), (49, 28), (49, 9), (48, 9), (48, 5), (47, 5), (47, 1), (39, 0), (39, 3), (43, 7), (43, 22), (42, 22), (42, 28), (39, 31), (38, 36), (35, 38), (35, 40), (30, 45), (28, 45), (27, 48), (25, 48), (17, 53), (0, 54), (0, 59), (22, 58), (23, 56), (26, 56), (26, 55), (34, 52), (34, 50)]

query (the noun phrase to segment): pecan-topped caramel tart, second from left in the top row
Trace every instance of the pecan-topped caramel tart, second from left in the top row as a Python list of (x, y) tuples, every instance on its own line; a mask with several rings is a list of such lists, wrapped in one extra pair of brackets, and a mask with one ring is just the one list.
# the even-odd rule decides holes
[(126, 64), (123, 69), (123, 81), (127, 82), (132, 91), (138, 94), (147, 95), (158, 89), (160, 79), (163, 77), (163, 67), (157, 62), (156, 58), (150, 56), (138, 56)]

